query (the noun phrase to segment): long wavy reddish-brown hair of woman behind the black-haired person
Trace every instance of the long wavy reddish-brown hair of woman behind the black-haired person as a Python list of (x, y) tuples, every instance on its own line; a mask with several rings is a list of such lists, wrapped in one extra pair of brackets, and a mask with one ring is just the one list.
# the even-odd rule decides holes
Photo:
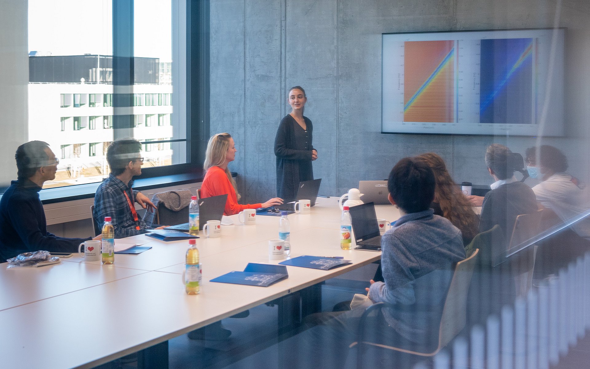
[(478, 233), (479, 227), (479, 218), (473, 212), (471, 203), (451, 178), (440, 156), (427, 152), (416, 158), (424, 161), (434, 171), (436, 187), (431, 205), (434, 214), (447, 218), (453, 226), (459, 228), (463, 234), (463, 244), (467, 246)]

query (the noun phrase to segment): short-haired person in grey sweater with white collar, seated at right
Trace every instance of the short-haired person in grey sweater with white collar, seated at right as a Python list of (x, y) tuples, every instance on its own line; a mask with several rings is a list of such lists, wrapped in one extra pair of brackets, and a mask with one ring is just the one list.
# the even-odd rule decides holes
[(491, 177), (491, 191), (487, 192), (481, 205), (480, 232), (490, 230), (496, 224), (510, 242), (516, 217), (537, 211), (535, 192), (514, 177), (512, 151), (504, 145), (493, 143), (486, 151), (486, 166)]

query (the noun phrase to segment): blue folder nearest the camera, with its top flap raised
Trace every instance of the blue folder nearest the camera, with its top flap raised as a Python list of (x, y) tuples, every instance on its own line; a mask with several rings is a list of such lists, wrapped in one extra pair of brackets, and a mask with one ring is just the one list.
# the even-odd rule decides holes
[(286, 266), (248, 263), (244, 272), (230, 272), (211, 279), (210, 282), (268, 287), (288, 277)]

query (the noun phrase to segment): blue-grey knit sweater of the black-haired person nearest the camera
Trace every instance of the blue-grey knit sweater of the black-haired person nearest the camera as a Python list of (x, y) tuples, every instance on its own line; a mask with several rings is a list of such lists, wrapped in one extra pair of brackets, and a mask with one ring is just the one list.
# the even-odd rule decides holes
[(375, 282), (369, 290), (373, 302), (396, 305), (384, 311), (389, 325), (422, 344), (438, 338), (442, 305), (453, 277), (451, 266), (465, 259), (461, 231), (433, 213), (429, 209), (403, 215), (383, 235), (385, 282)]

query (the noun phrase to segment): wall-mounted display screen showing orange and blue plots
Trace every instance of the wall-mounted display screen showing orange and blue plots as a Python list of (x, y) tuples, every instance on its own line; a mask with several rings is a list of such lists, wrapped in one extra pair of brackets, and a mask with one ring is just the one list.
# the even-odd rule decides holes
[(563, 136), (564, 34), (383, 34), (381, 132)]

